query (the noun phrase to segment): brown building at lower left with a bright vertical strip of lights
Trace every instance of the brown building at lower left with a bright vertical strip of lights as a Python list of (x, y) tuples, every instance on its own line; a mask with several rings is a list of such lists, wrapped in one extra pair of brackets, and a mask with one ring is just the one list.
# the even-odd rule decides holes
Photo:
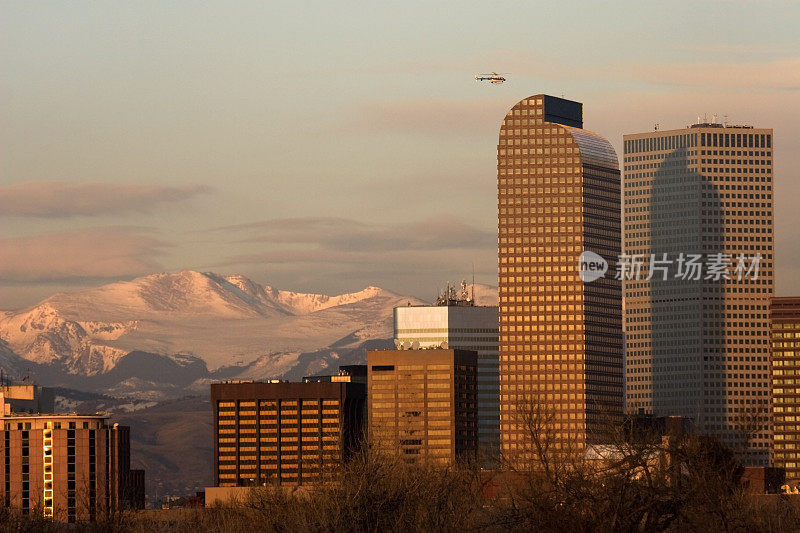
[(105, 415), (2, 417), (0, 502), (62, 522), (144, 508), (144, 471), (130, 469), (130, 432)]

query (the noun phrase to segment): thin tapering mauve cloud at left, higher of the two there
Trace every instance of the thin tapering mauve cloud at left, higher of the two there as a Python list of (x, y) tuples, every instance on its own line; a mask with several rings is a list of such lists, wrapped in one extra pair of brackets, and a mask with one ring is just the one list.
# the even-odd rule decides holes
[(159, 204), (180, 202), (210, 190), (205, 185), (26, 181), (0, 186), (0, 214), (68, 218), (143, 213)]

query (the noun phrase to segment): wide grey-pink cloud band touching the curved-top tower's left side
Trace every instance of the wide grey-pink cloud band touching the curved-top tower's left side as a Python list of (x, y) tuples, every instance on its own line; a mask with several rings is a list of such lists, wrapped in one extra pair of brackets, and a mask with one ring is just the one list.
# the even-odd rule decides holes
[[(446, 280), (496, 276), (497, 236), (453, 216), (370, 225), (296, 217), (216, 228), (250, 243), (208, 268), (246, 273), (295, 290), (349, 291), (375, 284), (431, 298)], [(230, 242), (230, 241), (229, 241)]]

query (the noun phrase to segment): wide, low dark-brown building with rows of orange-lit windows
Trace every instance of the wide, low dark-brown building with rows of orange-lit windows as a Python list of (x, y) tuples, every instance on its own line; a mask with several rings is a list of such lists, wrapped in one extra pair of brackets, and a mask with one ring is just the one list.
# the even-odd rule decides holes
[(211, 385), (218, 487), (318, 481), (364, 438), (361, 383)]

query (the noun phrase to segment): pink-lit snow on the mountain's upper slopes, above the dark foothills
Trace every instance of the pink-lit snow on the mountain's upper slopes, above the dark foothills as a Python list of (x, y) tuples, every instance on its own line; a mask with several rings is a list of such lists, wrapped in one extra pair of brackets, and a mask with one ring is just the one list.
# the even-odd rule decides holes
[(185, 270), (56, 294), (6, 312), (0, 340), (24, 359), (71, 374), (108, 372), (136, 350), (193, 355), (210, 370), (275, 354), (277, 370), (291, 360), (278, 354), (318, 350), (359, 330), (368, 332), (366, 340), (391, 337), (392, 309), (408, 301), (422, 303), (377, 287), (302, 294)]

